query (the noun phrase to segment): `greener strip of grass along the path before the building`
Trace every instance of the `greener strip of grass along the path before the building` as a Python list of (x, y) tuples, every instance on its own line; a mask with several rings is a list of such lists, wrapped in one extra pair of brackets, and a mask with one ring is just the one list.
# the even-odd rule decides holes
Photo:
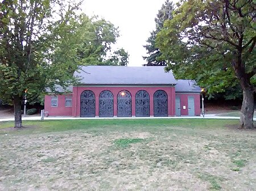
[[(44, 120), (44, 121), (23, 121), (25, 128), (20, 133), (44, 133), (66, 130), (140, 130), (141, 128), (159, 129), (170, 126), (186, 128), (218, 128), (223, 125), (223, 120), (205, 119), (115, 119), (115, 120)], [(210, 125), (209, 125), (210, 123)], [(225, 120), (225, 124), (238, 124), (236, 120)], [(14, 126), (14, 122), (0, 122), (0, 129)], [(0, 133), (4, 133), (4, 130)]]

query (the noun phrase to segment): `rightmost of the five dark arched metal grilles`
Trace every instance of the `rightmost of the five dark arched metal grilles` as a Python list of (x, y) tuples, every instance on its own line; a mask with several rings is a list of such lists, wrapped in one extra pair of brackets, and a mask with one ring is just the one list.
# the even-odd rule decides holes
[(158, 90), (154, 94), (154, 116), (168, 117), (168, 96), (163, 90)]

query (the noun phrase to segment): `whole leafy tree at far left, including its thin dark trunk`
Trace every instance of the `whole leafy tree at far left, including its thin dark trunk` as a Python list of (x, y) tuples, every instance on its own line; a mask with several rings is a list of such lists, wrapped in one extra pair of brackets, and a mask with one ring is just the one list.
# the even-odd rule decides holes
[(75, 18), (78, 9), (79, 3), (56, 0), (1, 1), (0, 97), (14, 105), (15, 128), (22, 127), (25, 90), (32, 100), (51, 84), (72, 81), (67, 68), (75, 70), (76, 65), (56, 63), (52, 49), (57, 48), (58, 30)]

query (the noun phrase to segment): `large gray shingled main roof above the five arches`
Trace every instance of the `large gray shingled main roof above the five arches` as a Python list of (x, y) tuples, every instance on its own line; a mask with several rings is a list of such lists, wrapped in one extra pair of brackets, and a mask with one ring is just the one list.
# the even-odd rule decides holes
[(176, 84), (174, 75), (166, 73), (164, 66), (82, 66), (75, 77), (81, 84), (97, 85), (171, 85)]

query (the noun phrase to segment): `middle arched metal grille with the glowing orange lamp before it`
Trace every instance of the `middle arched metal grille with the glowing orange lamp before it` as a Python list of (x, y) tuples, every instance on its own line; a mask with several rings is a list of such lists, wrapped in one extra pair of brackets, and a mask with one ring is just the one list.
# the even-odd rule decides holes
[(131, 117), (131, 94), (121, 91), (117, 95), (117, 117)]

